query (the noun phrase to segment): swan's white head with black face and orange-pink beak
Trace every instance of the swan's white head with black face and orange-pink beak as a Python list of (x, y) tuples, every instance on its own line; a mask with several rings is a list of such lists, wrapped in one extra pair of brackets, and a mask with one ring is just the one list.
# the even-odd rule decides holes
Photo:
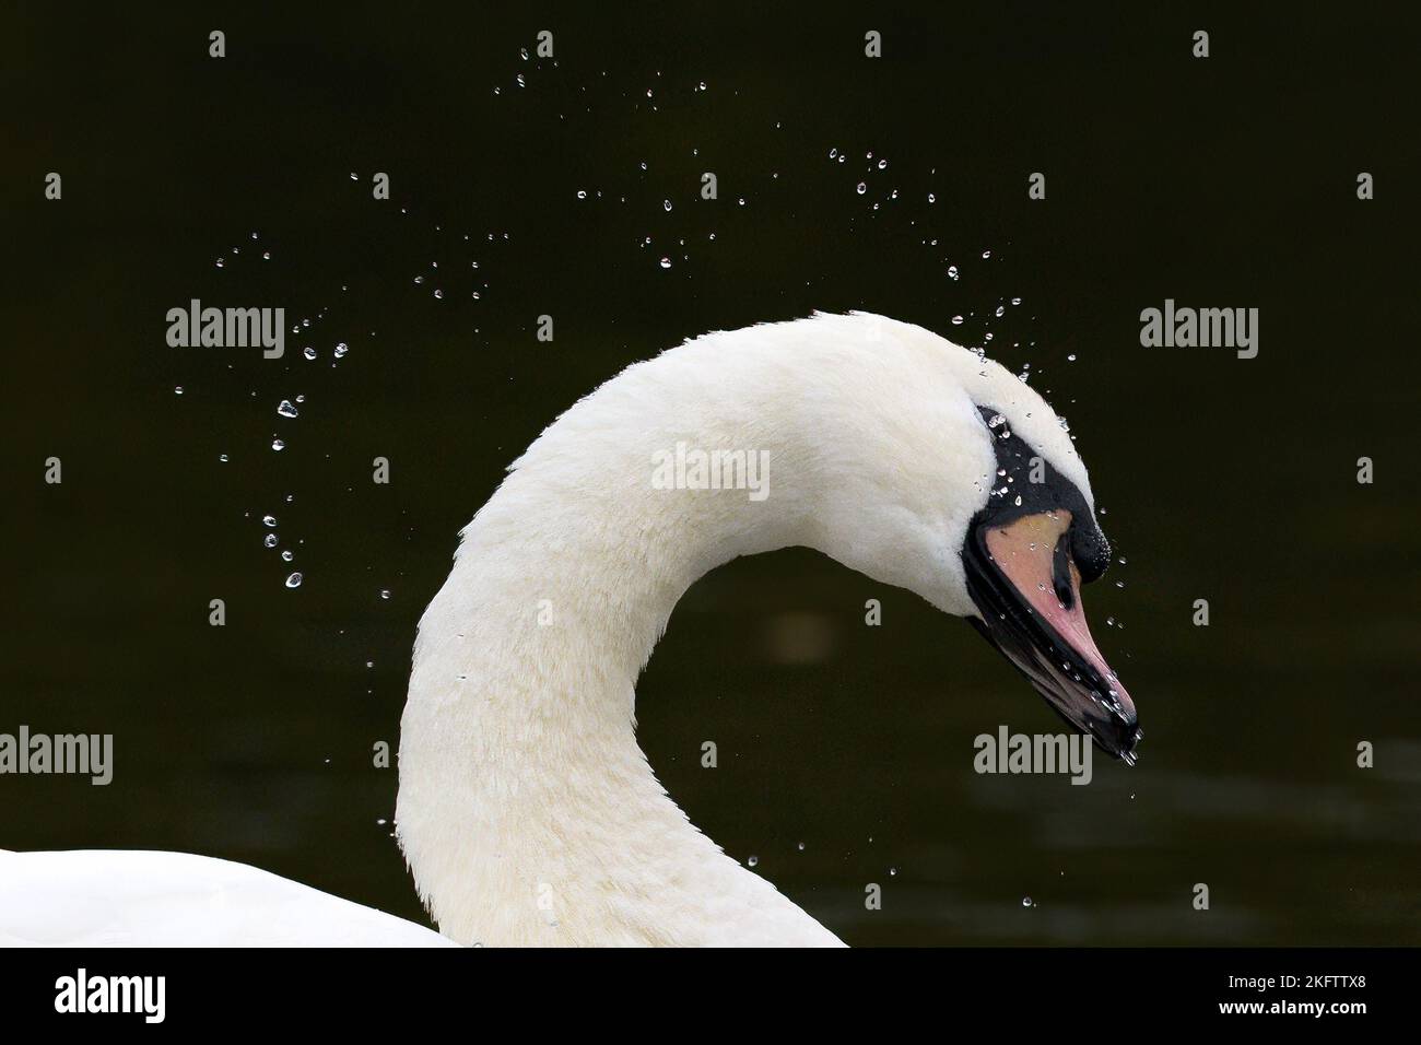
[(1067, 722), (1134, 763), (1134, 702), (1081, 604), (1110, 543), (1066, 424), (980, 353), (863, 313), (834, 321), (864, 324), (875, 373), (853, 394), (874, 408), (847, 439), (834, 429), (843, 486), (818, 506), (820, 547), (966, 617)]

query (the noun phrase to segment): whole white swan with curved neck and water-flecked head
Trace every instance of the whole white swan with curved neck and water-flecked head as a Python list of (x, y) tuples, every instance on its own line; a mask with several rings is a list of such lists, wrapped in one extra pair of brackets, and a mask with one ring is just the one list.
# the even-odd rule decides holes
[(686, 589), (796, 545), (966, 617), (1134, 762), (1134, 704), (1081, 609), (1110, 546), (1064, 424), (980, 353), (820, 313), (628, 367), (463, 529), (401, 719), (396, 835), (439, 934), (243, 864), (14, 853), (0, 938), (838, 945), (689, 822), (635, 736)]

